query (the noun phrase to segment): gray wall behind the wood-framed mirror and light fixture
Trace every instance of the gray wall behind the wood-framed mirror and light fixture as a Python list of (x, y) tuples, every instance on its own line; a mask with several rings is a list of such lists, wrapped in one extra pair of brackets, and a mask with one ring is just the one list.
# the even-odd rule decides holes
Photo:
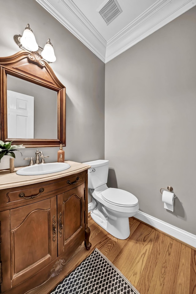
[[(27, 23), (40, 47), (51, 39), (57, 58), (51, 67), (66, 86), (66, 160), (104, 158), (104, 62), (35, 0), (0, 0), (0, 7), (0, 56), (20, 50), (13, 36), (22, 34)], [(57, 160), (58, 149), (40, 148), (50, 156), (46, 162)], [(26, 165), (23, 158), (35, 152), (36, 148), (22, 149), (23, 157), (16, 152), (15, 166)]]

